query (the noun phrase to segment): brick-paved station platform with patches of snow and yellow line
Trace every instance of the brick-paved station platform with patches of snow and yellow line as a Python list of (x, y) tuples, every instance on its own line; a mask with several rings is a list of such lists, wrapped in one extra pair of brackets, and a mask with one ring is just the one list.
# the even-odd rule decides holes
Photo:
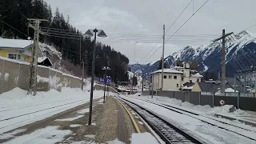
[(150, 134), (146, 124), (114, 97), (106, 104), (95, 99), (90, 126), (88, 118), (89, 102), (0, 134), (0, 143), (130, 143), (134, 134)]

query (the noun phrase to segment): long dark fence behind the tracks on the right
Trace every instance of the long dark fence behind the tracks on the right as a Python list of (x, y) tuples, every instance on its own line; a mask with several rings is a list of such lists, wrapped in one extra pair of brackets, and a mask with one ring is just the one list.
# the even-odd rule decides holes
[[(151, 91), (143, 91), (142, 95), (151, 95)], [(153, 92), (156, 95), (156, 92)], [(256, 111), (255, 93), (225, 93), (216, 94), (211, 92), (190, 92), (190, 91), (158, 91), (158, 96), (176, 98), (182, 102), (190, 102), (194, 105), (220, 106), (219, 101), (224, 100), (226, 105), (234, 105), (242, 110)]]

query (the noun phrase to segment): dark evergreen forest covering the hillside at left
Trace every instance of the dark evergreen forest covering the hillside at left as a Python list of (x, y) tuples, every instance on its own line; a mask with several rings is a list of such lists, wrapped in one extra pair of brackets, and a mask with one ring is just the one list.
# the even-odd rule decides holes
[[(49, 35), (42, 36), (40, 42), (56, 46), (57, 50), (62, 53), (62, 57), (75, 66), (81, 66), (83, 61), (86, 72), (90, 75), (94, 41), (84, 38), (82, 32), (70, 24), (70, 17), (64, 18), (58, 7), (53, 14), (50, 4), (43, 0), (1, 0), (0, 36), (3, 38), (33, 38), (34, 30), (28, 30), (26, 18), (48, 19), (49, 22), (42, 22), (40, 26)], [(62, 34), (58, 33), (58, 29), (62, 30)], [(64, 30), (66, 32), (63, 32)], [(73, 37), (69, 38), (69, 35)], [(115, 83), (129, 81), (127, 73), (129, 59), (126, 55), (115, 51), (113, 47), (97, 42), (95, 64), (96, 76), (103, 76), (105, 72), (102, 67), (110, 66), (111, 70), (108, 71), (108, 75), (114, 79)]]

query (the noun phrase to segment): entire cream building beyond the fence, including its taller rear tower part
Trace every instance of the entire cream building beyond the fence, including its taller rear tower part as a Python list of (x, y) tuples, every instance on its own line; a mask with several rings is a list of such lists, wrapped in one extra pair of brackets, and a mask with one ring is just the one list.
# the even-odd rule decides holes
[[(201, 82), (202, 75), (190, 68), (191, 62), (182, 62), (182, 66), (174, 66), (173, 69), (164, 69), (162, 90), (182, 90), (184, 83)], [(153, 90), (161, 89), (162, 70), (151, 73)]]

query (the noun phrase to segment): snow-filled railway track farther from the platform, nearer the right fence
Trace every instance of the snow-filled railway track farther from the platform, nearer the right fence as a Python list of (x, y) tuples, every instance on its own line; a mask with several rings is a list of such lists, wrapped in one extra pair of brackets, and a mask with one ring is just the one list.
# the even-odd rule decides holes
[[(221, 128), (223, 130), (228, 130), (228, 131), (230, 131), (230, 132), (232, 132), (234, 134), (241, 135), (242, 137), (249, 138), (250, 140), (253, 140), (253, 141), (256, 142), (256, 138), (252, 138), (252, 137), (250, 137), (250, 136), (248, 136), (246, 134), (241, 134), (240, 130), (248, 130), (248, 129), (244, 128), (244, 127), (235, 126), (235, 125), (230, 124), (228, 122), (222, 122), (222, 121), (219, 121), (219, 120), (216, 120), (216, 119), (213, 119), (213, 118), (209, 118), (207, 116), (203, 116), (203, 115), (200, 115), (200, 114), (193, 113), (193, 112), (188, 111), (188, 110), (182, 110), (182, 109), (179, 109), (179, 108), (174, 107), (174, 106), (169, 106), (169, 105), (166, 105), (166, 104), (159, 104), (157, 102), (152, 102), (150, 100), (143, 100), (143, 99), (140, 99), (140, 98), (135, 98), (135, 99), (138, 99), (138, 100), (141, 100), (141, 101), (144, 101), (144, 102), (150, 102), (150, 103), (152, 103), (154, 105), (157, 105), (157, 106), (162, 106), (162, 107), (164, 107), (164, 108), (166, 108), (168, 110), (172, 110), (172, 111), (177, 112), (179, 114), (186, 114), (186, 115), (188, 115), (188, 116), (190, 116), (192, 118), (196, 118), (196, 119), (198, 119), (198, 120), (200, 120), (202, 122), (206, 122), (207, 124), (210, 124), (211, 126), (218, 126), (219, 128)], [(202, 118), (200, 118), (200, 117), (202, 117)], [(206, 120), (207, 118), (208, 118), (208, 121)], [(212, 121), (212, 122), (209, 122), (209, 121)], [(220, 126), (220, 125), (216, 124), (215, 122), (220, 122), (220, 123), (223, 124), (223, 126)], [(236, 130), (235, 131), (235, 130), (232, 130), (232, 129), (228, 128), (227, 126), (235, 127), (235, 128), (240, 129), (240, 130)], [(248, 131), (253, 131), (253, 130), (248, 130)]]

